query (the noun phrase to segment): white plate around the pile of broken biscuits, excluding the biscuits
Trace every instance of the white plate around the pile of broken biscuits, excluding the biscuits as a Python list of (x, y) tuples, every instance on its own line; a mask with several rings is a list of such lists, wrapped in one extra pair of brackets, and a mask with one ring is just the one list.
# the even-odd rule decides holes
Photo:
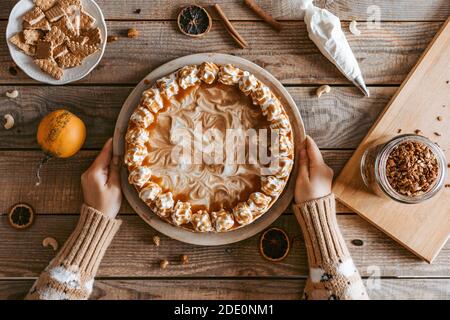
[(23, 70), (30, 78), (36, 81), (53, 85), (62, 85), (70, 82), (78, 81), (87, 76), (100, 62), (106, 48), (106, 23), (100, 7), (93, 0), (82, 0), (84, 9), (97, 20), (96, 27), (100, 29), (102, 34), (102, 43), (100, 51), (87, 57), (81, 66), (65, 69), (64, 75), (60, 80), (56, 80), (41, 71), (41, 69), (33, 62), (33, 58), (20, 51), (16, 46), (9, 42), (9, 38), (15, 33), (22, 31), (22, 16), (34, 7), (32, 0), (20, 0), (12, 9), (9, 15), (8, 26), (6, 27), (6, 43), (9, 52), (16, 65)]

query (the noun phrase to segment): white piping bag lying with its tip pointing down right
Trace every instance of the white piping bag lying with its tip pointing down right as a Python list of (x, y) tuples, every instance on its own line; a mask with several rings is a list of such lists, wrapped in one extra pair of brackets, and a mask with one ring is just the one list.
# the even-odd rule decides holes
[(342, 31), (339, 18), (326, 9), (314, 6), (312, 0), (299, 1), (301, 9), (304, 10), (309, 38), (320, 52), (368, 97), (369, 90), (358, 61)]

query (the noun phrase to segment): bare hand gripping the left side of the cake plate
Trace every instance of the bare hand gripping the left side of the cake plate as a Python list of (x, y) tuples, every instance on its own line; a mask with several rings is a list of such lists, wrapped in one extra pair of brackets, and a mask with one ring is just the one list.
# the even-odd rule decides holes
[(119, 157), (113, 156), (110, 138), (89, 169), (81, 175), (84, 203), (110, 218), (117, 216), (122, 202), (119, 170)]

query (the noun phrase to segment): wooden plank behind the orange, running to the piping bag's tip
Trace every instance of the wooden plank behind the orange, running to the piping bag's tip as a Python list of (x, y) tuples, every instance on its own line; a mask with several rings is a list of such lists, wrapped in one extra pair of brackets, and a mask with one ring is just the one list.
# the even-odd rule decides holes
[[(4, 92), (16, 88), (17, 99)], [(333, 87), (319, 100), (315, 87), (290, 87), (305, 123), (306, 132), (321, 148), (356, 148), (378, 114), (396, 91), (396, 87), (371, 87), (364, 98), (352, 87)], [(112, 136), (116, 118), (131, 87), (55, 87), (0, 86), (0, 116), (15, 118), (12, 130), (0, 129), (0, 149), (38, 148), (36, 130), (40, 119), (50, 111), (67, 108), (83, 119), (88, 128), (85, 148), (101, 148)]]

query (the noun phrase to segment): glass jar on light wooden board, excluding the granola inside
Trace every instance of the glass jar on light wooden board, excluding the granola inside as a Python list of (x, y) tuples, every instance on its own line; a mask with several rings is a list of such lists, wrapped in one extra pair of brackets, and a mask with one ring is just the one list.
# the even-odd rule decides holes
[[(418, 142), (427, 146), (436, 156), (438, 172), (433, 185), (424, 193), (417, 196), (407, 196), (397, 192), (389, 183), (386, 165), (391, 152), (403, 142)], [(415, 135), (404, 134), (387, 142), (375, 141), (367, 148), (361, 158), (361, 176), (366, 187), (378, 196), (392, 199), (401, 203), (421, 203), (436, 195), (443, 187), (446, 176), (446, 160), (444, 152), (430, 139)]]

